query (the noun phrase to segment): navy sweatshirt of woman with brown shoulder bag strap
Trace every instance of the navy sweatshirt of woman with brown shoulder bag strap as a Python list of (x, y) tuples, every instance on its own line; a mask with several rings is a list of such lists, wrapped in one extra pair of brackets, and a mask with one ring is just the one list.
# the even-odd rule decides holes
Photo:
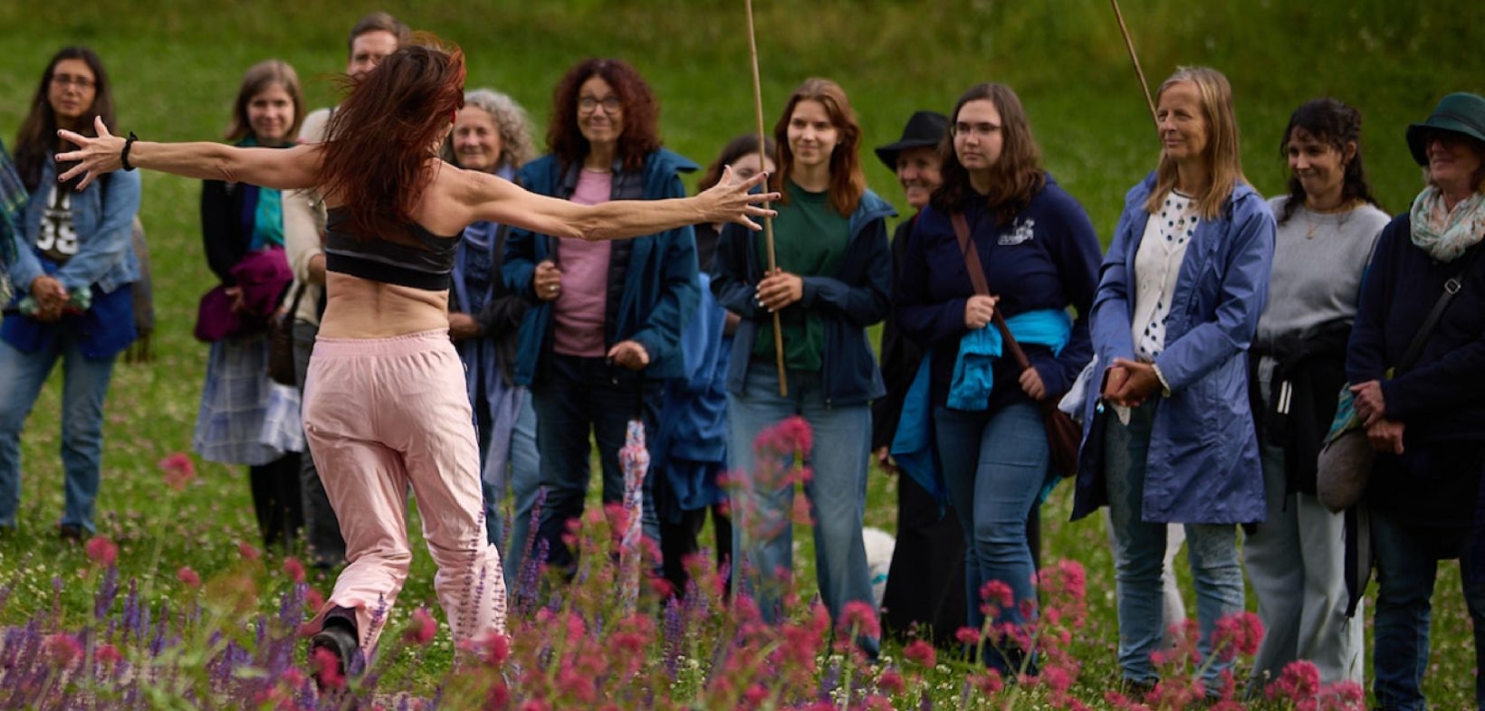
[[(993, 295), (1001, 297), (1001, 315), (1011, 318), (1042, 309), (1077, 309), (1072, 340), (1060, 355), (1054, 356), (1047, 346), (1022, 344), (1048, 396), (1060, 398), (1093, 358), (1089, 315), (1103, 258), (1093, 223), (1083, 205), (1057, 187), (1050, 175), (1047, 186), (1007, 224), (996, 224), (985, 197), (977, 194), (970, 194), (961, 209), (970, 224), (970, 239), (980, 252), (985, 282)], [(898, 328), (931, 349), (933, 404), (943, 405), (959, 340), (970, 332), (964, 325), (964, 306), (974, 295), (959, 239), (943, 211), (924, 208), (897, 279), (892, 301), (897, 304)], [(1029, 401), (1019, 380), (1016, 361), (998, 359), (989, 410)]]

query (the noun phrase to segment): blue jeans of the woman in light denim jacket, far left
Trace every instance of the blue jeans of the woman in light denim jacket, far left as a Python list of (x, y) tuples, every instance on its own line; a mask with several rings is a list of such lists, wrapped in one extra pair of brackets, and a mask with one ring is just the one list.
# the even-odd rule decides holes
[(34, 353), (0, 341), (0, 525), (15, 527), (21, 508), (21, 429), (56, 359), (62, 361), (62, 472), (65, 506), (59, 525), (89, 533), (102, 471), (102, 401), (114, 358), (83, 355), (79, 334), (64, 331)]

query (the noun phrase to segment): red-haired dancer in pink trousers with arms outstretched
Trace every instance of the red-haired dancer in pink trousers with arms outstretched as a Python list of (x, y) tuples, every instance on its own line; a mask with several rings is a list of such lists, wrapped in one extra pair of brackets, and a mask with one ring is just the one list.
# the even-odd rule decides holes
[[(438, 564), (434, 586), (456, 643), (505, 629), (505, 582), (486, 539), (480, 451), (463, 368), (448, 340), (457, 235), (474, 221), (604, 240), (766, 211), (731, 184), (691, 199), (573, 205), (527, 193), (438, 159), (463, 105), (463, 53), (407, 46), (347, 79), (322, 144), (282, 150), (215, 142), (160, 144), (70, 131), (79, 160), (62, 180), (148, 168), (325, 196), (328, 303), (304, 389), (304, 432), (346, 537), (350, 561), (315, 617), (312, 649), (355, 672), (407, 577), (407, 490)], [(447, 235), (447, 236), (446, 236)], [(316, 656), (324, 656), (316, 652)], [(324, 668), (324, 666), (322, 666)]]

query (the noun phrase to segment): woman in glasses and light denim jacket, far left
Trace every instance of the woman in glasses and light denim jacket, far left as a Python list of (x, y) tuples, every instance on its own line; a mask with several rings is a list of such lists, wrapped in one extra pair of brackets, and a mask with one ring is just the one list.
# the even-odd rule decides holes
[(102, 61), (88, 47), (52, 56), (31, 96), (15, 142), (15, 165), (31, 193), (15, 233), (10, 267), (16, 295), (0, 325), (0, 530), (15, 528), (21, 505), (21, 429), (56, 361), (62, 361), (64, 539), (97, 530), (94, 508), (102, 469), (102, 404), (113, 364), (134, 341), (134, 215), (138, 174), (111, 175), (94, 190), (67, 171), (58, 129), (94, 134), (111, 126), (113, 91)]

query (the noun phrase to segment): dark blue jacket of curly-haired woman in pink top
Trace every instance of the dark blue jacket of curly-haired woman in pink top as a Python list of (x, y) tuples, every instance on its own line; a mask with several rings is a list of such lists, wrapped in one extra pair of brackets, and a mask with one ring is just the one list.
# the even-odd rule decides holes
[[(642, 169), (643, 199), (685, 197), (680, 174), (695, 169), (696, 163), (665, 148), (650, 153)], [(558, 196), (563, 171), (557, 166), (557, 157), (548, 154), (526, 163), (518, 180), (533, 193)], [(535, 301), (521, 321), (517, 384), (532, 384), (538, 364), (551, 355), (552, 303), (535, 298), (532, 275), (536, 264), (552, 255), (555, 240), (557, 237), (530, 230), (511, 230), (505, 242), (505, 263), (500, 266), (505, 286), (512, 294), (523, 294)], [(622, 294), (609, 346), (624, 340), (639, 341), (650, 356), (650, 364), (644, 368), (646, 377), (685, 377), (680, 331), (696, 313), (701, 298), (696, 237), (691, 226), (634, 237)]]

